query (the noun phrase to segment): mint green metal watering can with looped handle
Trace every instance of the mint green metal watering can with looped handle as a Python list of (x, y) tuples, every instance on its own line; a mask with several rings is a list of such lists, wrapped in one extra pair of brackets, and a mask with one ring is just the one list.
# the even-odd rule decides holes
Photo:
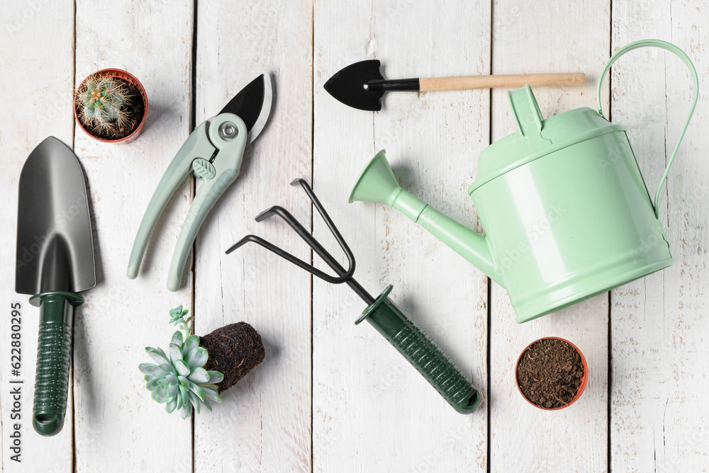
[[(695, 94), (654, 200), (625, 127), (606, 120), (601, 109), (601, 84), (611, 64), (647, 46), (679, 56), (691, 72)], [(530, 86), (510, 92), (519, 131), (483, 150), (468, 188), (486, 236), (398, 186), (384, 151), (362, 171), (350, 202), (392, 205), (505, 287), (518, 322), (536, 319), (674, 263), (658, 204), (698, 87), (696, 70), (682, 50), (644, 40), (623, 47), (605, 64), (598, 110), (577, 108), (544, 119)]]

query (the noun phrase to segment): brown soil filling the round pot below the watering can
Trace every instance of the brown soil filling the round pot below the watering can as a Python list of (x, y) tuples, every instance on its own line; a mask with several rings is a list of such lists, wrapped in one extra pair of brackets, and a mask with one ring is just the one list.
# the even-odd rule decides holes
[(556, 338), (532, 343), (522, 353), (517, 382), (536, 406), (557, 409), (574, 399), (584, 377), (584, 363), (574, 347)]

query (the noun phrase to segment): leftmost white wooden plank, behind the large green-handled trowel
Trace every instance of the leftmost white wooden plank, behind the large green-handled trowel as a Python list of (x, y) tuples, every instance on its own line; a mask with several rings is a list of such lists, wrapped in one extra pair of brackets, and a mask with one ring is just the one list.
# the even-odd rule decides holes
[[(29, 296), (17, 295), (15, 243), (17, 190), (20, 170), (28, 154), (52, 135), (69, 147), (73, 142), (72, 88), (74, 78), (74, 6), (71, 1), (48, 4), (40, 1), (6, 2), (0, 25), (0, 419), (2, 422), (2, 469), (4, 472), (72, 471), (72, 396), (67, 418), (59, 435), (44, 438), (32, 428), (32, 403), (37, 356), (39, 311)], [(11, 375), (11, 303), (21, 304), (21, 373)], [(80, 311), (79, 311), (80, 312)], [(23, 384), (9, 384), (23, 380)], [(13, 406), (12, 388), (22, 391), (21, 418)], [(21, 424), (21, 463), (11, 460), (13, 425)]]

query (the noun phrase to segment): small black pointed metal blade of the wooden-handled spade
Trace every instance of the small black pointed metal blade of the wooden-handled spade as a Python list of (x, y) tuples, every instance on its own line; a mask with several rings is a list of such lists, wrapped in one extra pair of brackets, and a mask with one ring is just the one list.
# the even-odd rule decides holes
[(418, 91), (418, 79), (387, 80), (381, 75), (379, 59), (355, 62), (325, 82), (325, 90), (338, 101), (359, 110), (381, 110), (386, 91)]

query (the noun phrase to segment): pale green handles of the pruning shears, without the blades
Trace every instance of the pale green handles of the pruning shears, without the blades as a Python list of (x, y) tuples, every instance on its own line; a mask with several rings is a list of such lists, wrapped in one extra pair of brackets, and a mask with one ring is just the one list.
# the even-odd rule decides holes
[[(247, 135), (244, 121), (233, 113), (221, 113), (203, 122), (189, 135), (162, 176), (145, 210), (130, 253), (128, 278), (138, 276), (147, 241), (157, 220), (184, 178), (194, 172), (203, 182), (182, 225), (167, 276), (167, 289), (179, 289), (189, 251), (201, 225), (216, 201), (239, 175)], [(215, 153), (216, 157), (213, 157)]]

